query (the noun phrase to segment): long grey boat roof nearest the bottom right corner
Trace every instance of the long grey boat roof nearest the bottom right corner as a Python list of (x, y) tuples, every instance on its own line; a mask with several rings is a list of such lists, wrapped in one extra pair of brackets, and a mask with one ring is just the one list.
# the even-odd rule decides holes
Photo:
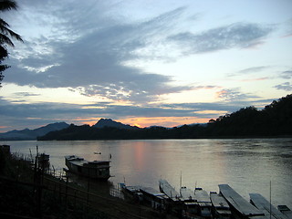
[(276, 207), (269, 203), (260, 193), (250, 193), (249, 197), (255, 207), (263, 211), (266, 215), (270, 215), (270, 212), (272, 212), (271, 216), (274, 219), (287, 219), (286, 215), (277, 210)]

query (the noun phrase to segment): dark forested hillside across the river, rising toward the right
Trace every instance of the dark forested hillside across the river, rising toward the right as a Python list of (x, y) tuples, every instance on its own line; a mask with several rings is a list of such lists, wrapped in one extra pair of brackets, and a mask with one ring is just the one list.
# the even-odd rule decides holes
[(71, 124), (68, 129), (52, 131), (38, 140), (130, 140), (130, 139), (193, 139), (228, 137), (276, 137), (292, 135), (292, 95), (275, 100), (264, 110), (247, 107), (226, 114), (204, 125), (183, 125), (167, 129), (151, 127), (126, 130), (102, 129)]

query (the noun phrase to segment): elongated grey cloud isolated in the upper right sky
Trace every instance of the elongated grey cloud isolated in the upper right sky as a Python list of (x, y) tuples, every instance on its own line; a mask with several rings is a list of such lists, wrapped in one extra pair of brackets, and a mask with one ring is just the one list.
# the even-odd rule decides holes
[(213, 52), (235, 47), (254, 47), (273, 31), (271, 26), (251, 23), (235, 23), (229, 26), (193, 34), (184, 32), (169, 36), (169, 40), (182, 46), (186, 55)]

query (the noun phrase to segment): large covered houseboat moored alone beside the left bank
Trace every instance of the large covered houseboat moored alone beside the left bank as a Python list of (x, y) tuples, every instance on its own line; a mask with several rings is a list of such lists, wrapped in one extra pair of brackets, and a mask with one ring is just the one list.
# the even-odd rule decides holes
[(68, 171), (92, 179), (107, 181), (110, 178), (110, 161), (89, 162), (76, 155), (65, 156)]

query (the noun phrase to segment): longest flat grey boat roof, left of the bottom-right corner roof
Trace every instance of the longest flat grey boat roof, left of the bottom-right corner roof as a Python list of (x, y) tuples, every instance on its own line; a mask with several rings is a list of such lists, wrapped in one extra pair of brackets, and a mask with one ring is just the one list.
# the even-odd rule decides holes
[(265, 214), (256, 209), (254, 205), (248, 203), (239, 193), (236, 193), (228, 184), (219, 184), (220, 193), (226, 201), (230, 203), (237, 212), (245, 216), (264, 216)]

